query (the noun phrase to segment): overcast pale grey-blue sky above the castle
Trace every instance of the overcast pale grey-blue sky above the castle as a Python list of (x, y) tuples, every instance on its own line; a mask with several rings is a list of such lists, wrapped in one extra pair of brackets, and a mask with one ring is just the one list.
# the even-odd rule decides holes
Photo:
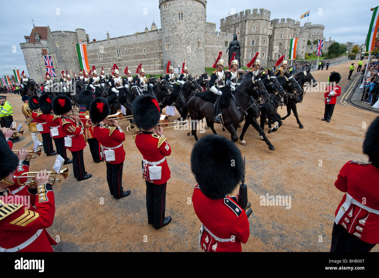
[[(175, 1), (175, 0), (174, 0)], [(297, 2), (297, 3), (296, 3)], [(106, 39), (110, 37), (133, 34), (144, 31), (145, 24), (150, 29), (154, 19), (161, 28), (158, 0), (144, 1), (3, 1), (0, 24), (0, 75), (13, 74), (12, 69), (26, 70), (20, 43), (24, 36), (30, 35), (34, 19), (35, 26), (50, 26), (51, 31), (75, 31), (83, 28), (89, 39)], [(310, 10), (309, 21), (325, 25), (324, 37), (340, 43), (355, 42), (363, 44), (372, 16), (373, 1), (320, 0), (305, 1), (271, 0), (266, 2), (252, 0), (208, 0), (207, 21), (216, 23), (219, 31), (220, 19), (245, 9), (264, 8), (271, 11), (271, 19), (291, 18), (300, 20), (301, 26), (308, 18), (300, 16)], [(15, 47), (14, 47), (15, 46)], [(16, 53), (14, 53), (14, 50)], [(21, 72), (20, 72), (21, 73)]]

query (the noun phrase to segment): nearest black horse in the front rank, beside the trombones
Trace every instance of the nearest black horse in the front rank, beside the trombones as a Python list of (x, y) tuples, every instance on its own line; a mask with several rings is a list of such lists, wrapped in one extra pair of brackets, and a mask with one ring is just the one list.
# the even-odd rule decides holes
[[(236, 129), (243, 121), (244, 116), (247, 114), (246, 109), (249, 108), (249, 101), (251, 97), (253, 102), (259, 102), (260, 105), (269, 101), (268, 92), (260, 79), (261, 74), (254, 76), (252, 72), (246, 75), (246, 78), (240, 86), (232, 94), (230, 104), (228, 107), (221, 108), (222, 118), (224, 119), (224, 127), (229, 131), (233, 142), (238, 141)], [(189, 116), (191, 116), (191, 133), (197, 141), (196, 128), (197, 122), (204, 117), (207, 121), (208, 127), (211, 128), (216, 134), (214, 128), (214, 112), (215, 105), (212, 102), (203, 100), (202, 98), (194, 95), (188, 100), (187, 108)]]

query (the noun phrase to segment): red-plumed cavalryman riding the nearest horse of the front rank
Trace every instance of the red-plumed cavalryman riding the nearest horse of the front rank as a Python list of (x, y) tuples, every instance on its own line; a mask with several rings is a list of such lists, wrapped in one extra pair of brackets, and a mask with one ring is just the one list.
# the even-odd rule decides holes
[(215, 94), (216, 103), (215, 103), (215, 122), (221, 123), (220, 118), (220, 99), (222, 95), (222, 91), (220, 89), (224, 88), (226, 86), (225, 84), (225, 73), (224, 73), (224, 60), (220, 59), (222, 55), (222, 52), (219, 52), (218, 58), (213, 64), (213, 68), (217, 69), (212, 73), (211, 80), (209, 81), (209, 86), (211, 86), (210, 90)]

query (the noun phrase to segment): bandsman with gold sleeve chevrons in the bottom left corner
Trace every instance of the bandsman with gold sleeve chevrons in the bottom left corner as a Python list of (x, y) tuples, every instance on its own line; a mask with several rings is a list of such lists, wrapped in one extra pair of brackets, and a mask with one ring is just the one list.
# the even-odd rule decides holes
[[(33, 202), (14, 195), (8, 189), (13, 182), (19, 159), (0, 139), (0, 252), (52, 252), (57, 242), (46, 228), (53, 223), (55, 202), (49, 175), (38, 172)], [(30, 189), (31, 190), (31, 189)], [(35, 203), (35, 208), (33, 204)]]

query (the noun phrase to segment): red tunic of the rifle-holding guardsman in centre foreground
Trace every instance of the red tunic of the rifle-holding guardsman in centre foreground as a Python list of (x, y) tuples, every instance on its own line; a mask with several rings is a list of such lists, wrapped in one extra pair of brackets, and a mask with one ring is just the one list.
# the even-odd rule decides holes
[(228, 239), (235, 236), (234, 242), (218, 242), (204, 230), (200, 245), (207, 252), (242, 252), (241, 242), (249, 239), (249, 220), (240, 206), (230, 198), (212, 200), (205, 196), (197, 185), (192, 195), (193, 208), (201, 223), (217, 237)]

